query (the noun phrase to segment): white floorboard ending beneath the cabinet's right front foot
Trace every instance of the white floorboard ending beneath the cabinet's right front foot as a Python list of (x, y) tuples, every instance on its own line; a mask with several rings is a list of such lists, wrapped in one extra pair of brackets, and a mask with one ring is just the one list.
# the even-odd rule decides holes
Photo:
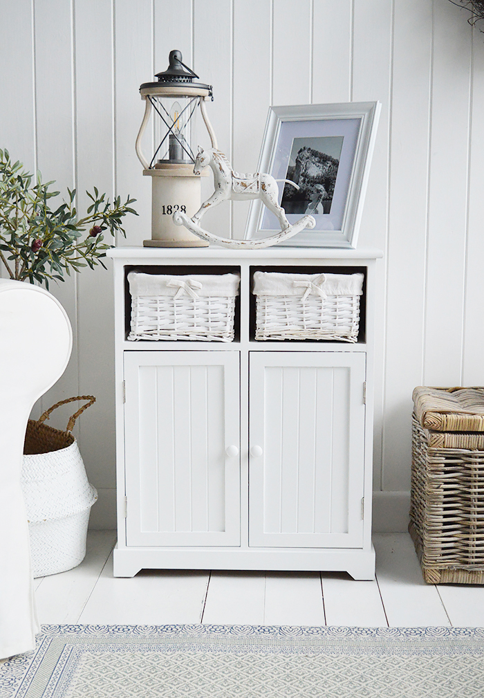
[(323, 572), (321, 577), (326, 625), (386, 627), (376, 581), (355, 581), (345, 572)]

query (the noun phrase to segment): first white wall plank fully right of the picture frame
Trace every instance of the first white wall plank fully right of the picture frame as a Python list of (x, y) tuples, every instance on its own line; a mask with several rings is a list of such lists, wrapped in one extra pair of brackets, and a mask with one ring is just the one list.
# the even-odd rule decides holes
[[(395, 1), (391, 102), (391, 188), (386, 267), (384, 468), (375, 484), (408, 490), (411, 429), (409, 386), (423, 382), (425, 253), (432, 71), (432, 5)], [(409, 36), (414, 45), (409, 52)], [(411, 125), (411, 128), (409, 126)]]

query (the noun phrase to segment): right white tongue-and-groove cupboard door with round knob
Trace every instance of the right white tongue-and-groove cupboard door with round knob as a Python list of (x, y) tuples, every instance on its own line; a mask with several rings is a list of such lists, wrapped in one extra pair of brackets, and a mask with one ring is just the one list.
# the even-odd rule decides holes
[(250, 352), (253, 547), (361, 547), (362, 352)]

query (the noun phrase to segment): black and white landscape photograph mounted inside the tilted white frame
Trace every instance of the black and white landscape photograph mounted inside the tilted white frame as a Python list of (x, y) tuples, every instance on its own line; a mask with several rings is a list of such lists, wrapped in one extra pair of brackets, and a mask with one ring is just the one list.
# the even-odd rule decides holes
[(287, 214), (331, 213), (342, 145), (343, 136), (293, 139), (281, 201)]

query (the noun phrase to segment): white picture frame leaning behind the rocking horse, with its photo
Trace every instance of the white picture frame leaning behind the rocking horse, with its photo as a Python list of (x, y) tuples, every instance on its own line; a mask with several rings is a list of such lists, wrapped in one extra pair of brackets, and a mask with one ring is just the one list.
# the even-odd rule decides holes
[[(258, 172), (302, 185), (279, 183), (289, 223), (305, 214), (316, 220), (280, 244), (356, 248), (380, 112), (379, 102), (269, 107)], [(278, 232), (277, 218), (252, 200), (245, 239)]]

